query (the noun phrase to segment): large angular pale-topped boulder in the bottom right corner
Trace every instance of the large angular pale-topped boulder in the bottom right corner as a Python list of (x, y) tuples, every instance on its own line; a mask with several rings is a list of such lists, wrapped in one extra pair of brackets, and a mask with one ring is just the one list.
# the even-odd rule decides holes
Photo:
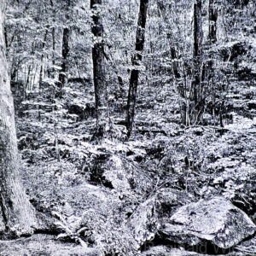
[(234, 247), (256, 230), (245, 212), (222, 197), (180, 207), (161, 223), (160, 236), (167, 241), (189, 246), (211, 241), (224, 249)]

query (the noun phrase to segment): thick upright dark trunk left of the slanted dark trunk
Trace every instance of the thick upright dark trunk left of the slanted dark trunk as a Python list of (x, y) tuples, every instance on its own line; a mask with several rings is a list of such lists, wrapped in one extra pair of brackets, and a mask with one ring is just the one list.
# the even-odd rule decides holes
[(92, 48), (93, 61), (93, 82), (96, 103), (96, 133), (95, 138), (99, 139), (106, 135), (106, 125), (108, 123), (108, 98), (107, 84), (104, 69), (104, 43), (102, 17), (96, 10), (96, 4), (102, 4), (102, 0), (90, 0), (90, 9), (93, 11), (93, 26), (91, 32), (96, 38)]

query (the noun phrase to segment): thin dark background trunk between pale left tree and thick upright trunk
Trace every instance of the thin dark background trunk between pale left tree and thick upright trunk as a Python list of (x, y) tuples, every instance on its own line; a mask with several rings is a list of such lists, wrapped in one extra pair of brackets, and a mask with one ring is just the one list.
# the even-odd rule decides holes
[[(69, 8), (71, 6), (70, 0), (67, 0), (66, 6), (66, 19), (69, 20)], [(67, 26), (63, 29), (63, 37), (62, 37), (62, 61), (61, 61), (61, 73), (59, 75), (59, 81), (61, 83), (61, 88), (67, 84), (67, 76), (69, 71), (68, 59), (69, 59), (69, 40), (71, 38), (71, 31), (70, 28)]]

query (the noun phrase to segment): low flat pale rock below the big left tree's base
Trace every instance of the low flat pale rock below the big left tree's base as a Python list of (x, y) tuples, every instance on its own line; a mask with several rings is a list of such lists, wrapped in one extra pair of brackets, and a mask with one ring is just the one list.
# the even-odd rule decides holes
[(55, 236), (33, 235), (13, 241), (0, 241), (0, 255), (100, 256), (104, 254), (96, 247), (81, 247), (75, 243), (57, 241)]

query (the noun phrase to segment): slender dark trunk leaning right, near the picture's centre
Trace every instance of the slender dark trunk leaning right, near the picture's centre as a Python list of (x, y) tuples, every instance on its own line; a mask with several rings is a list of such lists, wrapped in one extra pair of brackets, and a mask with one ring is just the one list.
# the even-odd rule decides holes
[(136, 47), (135, 50), (137, 53), (133, 56), (132, 66), (133, 69), (131, 70), (131, 78), (129, 84), (129, 92), (128, 92), (128, 99), (127, 99), (127, 106), (126, 106), (126, 127), (127, 127), (127, 136), (131, 136), (132, 125), (135, 117), (135, 107), (136, 107), (136, 100), (137, 100), (137, 84), (138, 84), (138, 77), (139, 77), (139, 66), (140, 62), (143, 59), (143, 48), (145, 42), (145, 26), (147, 20), (147, 10), (148, 10), (148, 0), (141, 0), (140, 1), (140, 9), (137, 21), (137, 35), (136, 35)]

